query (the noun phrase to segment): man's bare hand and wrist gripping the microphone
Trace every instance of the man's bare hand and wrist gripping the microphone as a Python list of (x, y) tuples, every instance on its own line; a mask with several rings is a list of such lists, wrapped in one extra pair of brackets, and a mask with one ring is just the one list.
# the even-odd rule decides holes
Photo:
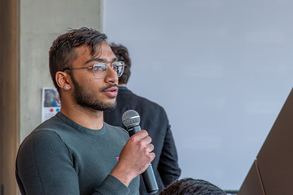
[(155, 158), (154, 146), (146, 130), (131, 136), (123, 147), (116, 167), (110, 173), (127, 187), (131, 180), (142, 174)]

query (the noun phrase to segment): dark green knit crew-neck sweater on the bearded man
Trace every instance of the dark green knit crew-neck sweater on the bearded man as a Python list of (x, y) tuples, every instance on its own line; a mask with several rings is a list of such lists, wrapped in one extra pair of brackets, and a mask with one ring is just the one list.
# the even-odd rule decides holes
[(108, 125), (87, 129), (58, 112), (21, 143), (16, 179), (22, 195), (138, 195), (110, 175), (129, 135)]

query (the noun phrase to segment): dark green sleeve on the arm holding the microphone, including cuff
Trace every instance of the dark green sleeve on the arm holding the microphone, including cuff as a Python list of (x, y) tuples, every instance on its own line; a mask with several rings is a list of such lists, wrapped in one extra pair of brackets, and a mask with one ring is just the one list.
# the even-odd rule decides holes
[[(50, 130), (39, 130), (21, 144), (16, 178), (22, 195), (80, 195), (79, 177), (69, 149)], [(108, 175), (94, 195), (127, 195), (129, 189)]]

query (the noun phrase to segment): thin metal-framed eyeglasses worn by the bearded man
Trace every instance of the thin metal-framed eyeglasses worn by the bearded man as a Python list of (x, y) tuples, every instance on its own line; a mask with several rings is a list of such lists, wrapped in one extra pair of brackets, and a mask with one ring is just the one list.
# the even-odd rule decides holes
[(65, 70), (71, 69), (93, 69), (95, 78), (104, 78), (108, 72), (108, 66), (111, 64), (111, 68), (117, 73), (117, 76), (120, 77), (124, 72), (125, 63), (123, 61), (115, 62), (98, 62), (91, 67), (81, 67), (81, 68), (64, 68)]

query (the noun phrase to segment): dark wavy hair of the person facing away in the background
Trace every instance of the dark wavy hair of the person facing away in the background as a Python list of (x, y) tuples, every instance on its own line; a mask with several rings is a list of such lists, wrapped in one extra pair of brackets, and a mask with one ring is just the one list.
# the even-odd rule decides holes
[(118, 58), (118, 61), (123, 61), (125, 63), (124, 72), (119, 77), (118, 83), (119, 84), (126, 84), (128, 82), (128, 78), (130, 77), (130, 67), (131, 67), (131, 60), (129, 58), (128, 50), (124, 45), (110, 43), (110, 47)]

